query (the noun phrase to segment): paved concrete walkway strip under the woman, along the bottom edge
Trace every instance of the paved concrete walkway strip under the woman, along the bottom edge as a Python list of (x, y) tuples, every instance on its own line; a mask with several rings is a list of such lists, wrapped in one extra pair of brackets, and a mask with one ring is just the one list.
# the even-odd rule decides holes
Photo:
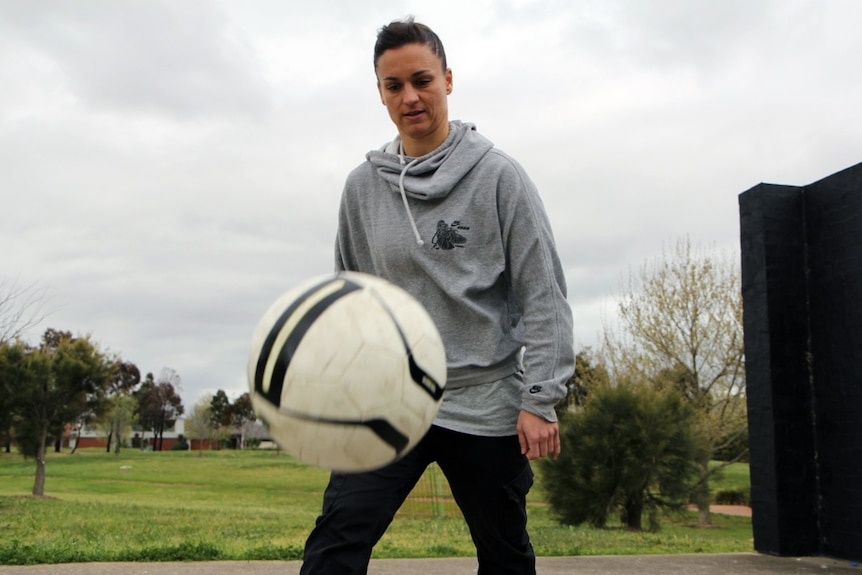
[[(540, 557), (538, 575), (862, 575), (850, 561), (757, 553)], [(0, 566), (0, 575), (294, 575), (298, 561), (212, 563), (70, 563)], [(475, 575), (475, 559), (379, 559), (369, 575)]]

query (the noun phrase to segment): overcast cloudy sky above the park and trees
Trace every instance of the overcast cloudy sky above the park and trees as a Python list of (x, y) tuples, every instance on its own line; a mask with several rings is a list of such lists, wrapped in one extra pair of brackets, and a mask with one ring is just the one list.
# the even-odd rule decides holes
[(543, 196), (578, 347), (663, 246), (738, 251), (738, 195), (862, 161), (858, 0), (0, 0), (0, 284), (44, 290), (186, 408), (247, 390), (258, 318), (333, 267), (395, 130), (377, 29), (441, 36), (450, 117)]

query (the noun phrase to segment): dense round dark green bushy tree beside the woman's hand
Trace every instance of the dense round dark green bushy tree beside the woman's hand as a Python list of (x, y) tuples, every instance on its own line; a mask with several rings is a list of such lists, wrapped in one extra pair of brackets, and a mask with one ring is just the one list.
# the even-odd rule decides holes
[(681, 396), (628, 381), (597, 387), (582, 410), (561, 420), (566, 446), (540, 461), (551, 510), (563, 523), (604, 527), (619, 512), (642, 529), (658, 528), (660, 509), (679, 509), (696, 478), (703, 449), (696, 410)]

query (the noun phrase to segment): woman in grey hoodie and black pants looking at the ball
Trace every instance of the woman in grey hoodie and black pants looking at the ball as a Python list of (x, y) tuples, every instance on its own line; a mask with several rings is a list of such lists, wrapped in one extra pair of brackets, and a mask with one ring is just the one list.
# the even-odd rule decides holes
[(376, 471), (333, 473), (301, 573), (365, 573), (433, 461), (470, 528), (479, 573), (535, 573), (529, 460), (559, 455), (554, 405), (574, 370), (548, 218), (517, 162), (449, 120), (452, 71), (430, 28), (384, 26), (374, 69), (398, 136), (347, 178), (336, 268), (383, 277), (425, 306), (446, 346), (446, 391), (410, 453)]

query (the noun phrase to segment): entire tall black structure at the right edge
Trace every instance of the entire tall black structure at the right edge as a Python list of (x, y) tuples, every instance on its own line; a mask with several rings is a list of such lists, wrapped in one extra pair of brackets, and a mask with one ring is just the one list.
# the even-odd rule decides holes
[(862, 559), (862, 164), (739, 196), (754, 546)]

